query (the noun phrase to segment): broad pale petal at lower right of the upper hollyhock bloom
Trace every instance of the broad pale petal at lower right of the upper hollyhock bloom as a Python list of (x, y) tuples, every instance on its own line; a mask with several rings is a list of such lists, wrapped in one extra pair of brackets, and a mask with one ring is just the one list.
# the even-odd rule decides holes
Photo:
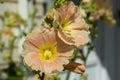
[(71, 35), (74, 37), (75, 45), (79, 48), (88, 43), (89, 32), (84, 30), (72, 30)]

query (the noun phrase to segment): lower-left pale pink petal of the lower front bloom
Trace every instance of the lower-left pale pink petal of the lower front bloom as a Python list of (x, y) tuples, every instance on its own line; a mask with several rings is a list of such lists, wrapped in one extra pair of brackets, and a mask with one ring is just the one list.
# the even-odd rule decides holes
[(25, 55), (24, 62), (25, 64), (27, 64), (27, 66), (31, 67), (33, 70), (36, 70), (36, 71), (43, 70), (43, 67), (42, 67), (43, 62), (40, 60), (40, 57), (37, 53), (31, 52)]

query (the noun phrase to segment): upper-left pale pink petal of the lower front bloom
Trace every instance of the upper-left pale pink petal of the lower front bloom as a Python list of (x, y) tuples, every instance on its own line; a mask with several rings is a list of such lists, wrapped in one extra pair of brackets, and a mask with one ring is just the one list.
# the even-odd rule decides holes
[(35, 30), (32, 33), (28, 34), (26, 40), (23, 43), (24, 54), (26, 55), (29, 52), (37, 52), (38, 48), (44, 44), (43, 33), (39, 30)]

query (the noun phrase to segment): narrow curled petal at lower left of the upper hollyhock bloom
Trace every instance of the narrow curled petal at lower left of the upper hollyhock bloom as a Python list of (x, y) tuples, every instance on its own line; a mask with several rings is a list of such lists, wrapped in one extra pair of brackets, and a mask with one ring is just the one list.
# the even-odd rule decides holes
[(65, 43), (69, 44), (69, 45), (73, 45), (74, 41), (72, 40), (73, 37), (69, 36), (68, 34), (66, 34), (64, 31), (62, 30), (58, 30), (58, 36), (61, 40), (63, 40)]

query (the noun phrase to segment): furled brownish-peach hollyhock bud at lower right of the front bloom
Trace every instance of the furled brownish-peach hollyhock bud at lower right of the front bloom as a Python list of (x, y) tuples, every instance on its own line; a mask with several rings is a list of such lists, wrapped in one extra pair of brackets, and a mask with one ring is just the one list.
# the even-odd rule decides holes
[(65, 69), (81, 74), (85, 72), (85, 66), (80, 63), (70, 62), (64, 66)]

